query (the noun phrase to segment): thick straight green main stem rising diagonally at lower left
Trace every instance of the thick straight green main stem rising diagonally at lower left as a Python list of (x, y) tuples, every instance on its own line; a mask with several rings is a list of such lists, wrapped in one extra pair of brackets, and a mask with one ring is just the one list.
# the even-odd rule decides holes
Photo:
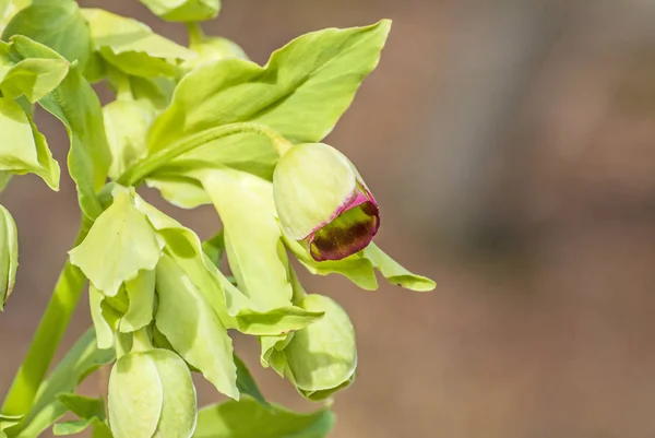
[[(82, 241), (91, 224), (83, 220), (76, 242)], [(46, 312), (36, 329), (27, 355), (7, 393), (2, 413), (25, 415), (34, 402), (55, 352), (78, 306), (86, 279), (82, 271), (67, 261), (55, 286)]]

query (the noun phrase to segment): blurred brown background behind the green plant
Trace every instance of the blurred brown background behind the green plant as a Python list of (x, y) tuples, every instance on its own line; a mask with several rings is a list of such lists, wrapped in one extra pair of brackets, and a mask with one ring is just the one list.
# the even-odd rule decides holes
[[(135, 0), (83, 3), (184, 42)], [(655, 3), (225, 0), (206, 31), (263, 63), (301, 33), (382, 17), (394, 20), (382, 61), (329, 142), (381, 203), (379, 244), (439, 286), (307, 279), (358, 333), (358, 379), (336, 398), (332, 436), (655, 436)], [(40, 122), (63, 162), (63, 129)], [(78, 226), (69, 179), (53, 194), (15, 178), (1, 201), (21, 267), (0, 316), (0, 394)], [(211, 209), (167, 211), (216, 230)], [(83, 305), (67, 344), (88, 323)], [(255, 342), (237, 347), (269, 398), (310, 407), (257, 366)]]

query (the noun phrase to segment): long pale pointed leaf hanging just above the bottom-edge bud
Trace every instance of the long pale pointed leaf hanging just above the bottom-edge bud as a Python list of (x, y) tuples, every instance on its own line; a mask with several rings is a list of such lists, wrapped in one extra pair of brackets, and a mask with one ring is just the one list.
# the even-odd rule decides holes
[(195, 285), (168, 256), (157, 264), (157, 329), (222, 393), (239, 398), (227, 330)]

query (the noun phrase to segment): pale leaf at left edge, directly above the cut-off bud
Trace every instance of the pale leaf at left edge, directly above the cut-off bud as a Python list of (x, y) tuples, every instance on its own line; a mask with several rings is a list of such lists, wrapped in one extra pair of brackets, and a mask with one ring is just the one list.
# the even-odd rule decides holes
[(59, 190), (59, 165), (23, 108), (9, 97), (0, 97), (0, 170), (38, 175), (52, 190)]

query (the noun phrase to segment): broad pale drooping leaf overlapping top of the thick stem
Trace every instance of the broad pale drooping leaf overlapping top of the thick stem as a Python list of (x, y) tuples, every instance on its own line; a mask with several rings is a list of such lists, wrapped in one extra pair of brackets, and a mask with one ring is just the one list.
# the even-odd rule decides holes
[(69, 251), (71, 263), (84, 272), (105, 295), (115, 296), (120, 285), (141, 270), (153, 270), (163, 242), (131, 193), (117, 186), (114, 203), (103, 212), (84, 240)]

